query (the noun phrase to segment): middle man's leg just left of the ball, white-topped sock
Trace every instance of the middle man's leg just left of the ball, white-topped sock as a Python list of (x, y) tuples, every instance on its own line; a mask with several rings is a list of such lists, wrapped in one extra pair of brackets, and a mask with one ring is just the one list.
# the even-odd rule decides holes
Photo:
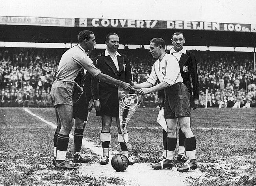
[(103, 158), (100, 160), (101, 165), (106, 165), (109, 162), (109, 144), (111, 140), (110, 127), (112, 123), (112, 117), (103, 115), (102, 119), (102, 129), (100, 133), (100, 140), (103, 148)]

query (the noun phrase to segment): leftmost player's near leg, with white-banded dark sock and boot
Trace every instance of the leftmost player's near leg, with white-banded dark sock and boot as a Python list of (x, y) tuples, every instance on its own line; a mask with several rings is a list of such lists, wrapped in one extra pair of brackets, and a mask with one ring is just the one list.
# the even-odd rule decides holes
[(57, 139), (57, 153), (55, 166), (59, 169), (78, 169), (66, 160), (67, 146), (69, 144), (69, 133), (72, 129), (73, 106), (67, 104), (56, 105), (61, 129)]

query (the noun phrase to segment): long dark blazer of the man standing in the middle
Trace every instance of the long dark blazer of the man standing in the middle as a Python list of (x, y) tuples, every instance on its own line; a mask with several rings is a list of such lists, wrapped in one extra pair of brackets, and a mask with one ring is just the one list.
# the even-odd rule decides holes
[[(121, 80), (123, 82), (129, 82), (129, 79), (132, 79), (131, 66), (130, 62), (126, 55), (120, 54), (117, 56), (119, 71), (111, 59), (111, 57), (105, 56), (105, 52), (98, 55), (95, 60), (95, 66), (102, 71), (102, 73), (109, 75), (115, 79)], [(109, 115), (112, 117), (117, 117), (118, 114), (118, 90), (117, 86), (111, 85), (105, 82), (98, 80), (97, 78), (91, 79), (91, 91), (93, 99), (100, 99), (101, 104), (101, 113), (100, 115)]]

